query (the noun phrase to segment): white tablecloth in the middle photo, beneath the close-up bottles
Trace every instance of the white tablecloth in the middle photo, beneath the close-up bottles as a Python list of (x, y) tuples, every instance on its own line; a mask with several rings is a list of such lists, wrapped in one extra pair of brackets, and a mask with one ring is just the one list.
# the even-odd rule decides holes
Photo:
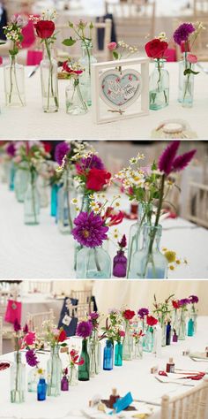
[[(0, 185), (0, 278), (72, 279), (74, 240), (71, 235), (61, 234), (49, 207), (41, 209), (40, 225), (24, 225), (24, 207)], [(126, 198), (121, 201), (123, 210), (129, 209)], [(128, 234), (132, 221), (124, 219), (119, 232)], [(113, 227), (114, 228), (114, 227)], [(163, 221), (161, 248), (175, 250), (186, 257), (187, 265), (169, 271), (168, 278), (208, 278), (208, 231), (188, 221), (166, 219)], [(113, 258), (116, 248), (108, 243)]]

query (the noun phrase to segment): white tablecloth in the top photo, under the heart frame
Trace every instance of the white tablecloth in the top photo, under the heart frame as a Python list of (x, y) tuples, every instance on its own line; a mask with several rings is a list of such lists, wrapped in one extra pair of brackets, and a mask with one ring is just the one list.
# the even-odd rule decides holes
[[(206, 64), (205, 64), (206, 65)], [(152, 65), (150, 67), (152, 69)], [(182, 119), (200, 139), (207, 138), (208, 99), (207, 74), (201, 72), (195, 77), (195, 102), (191, 109), (184, 109), (177, 103), (178, 64), (167, 63), (170, 73), (170, 103), (163, 110), (150, 110), (148, 116), (125, 119), (96, 125), (92, 110), (73, 117), (65, 113), (64, 90), (67, 80), (59, 80), (60, 110), (46, 114), (41, 108), (41, 77), (38, 70), (28, 78), (31, 68), (26, 67), (26, 107), (8, 109), (4, 106), (4, 69), (0, 68), (0, 139), (149, 139), (151, 132), (164, 120)]]

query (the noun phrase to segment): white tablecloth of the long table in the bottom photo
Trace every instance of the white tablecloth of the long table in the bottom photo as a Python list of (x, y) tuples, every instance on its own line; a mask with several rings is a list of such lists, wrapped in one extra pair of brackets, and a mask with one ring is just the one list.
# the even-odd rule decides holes
[[(83, 417), (81, 409), (88, 406), (88, 401), (92, 400), (95, 394), (100, 394), (102, 398), (108, 398), (112, 388), (116, 388), (120, 395), (131, 392), (134, 399), (160, 403), (160, 398), (164, 394), (175, 397), (176, 394), (187, 392), (191, 387), (178, 384), (161, 384), (150, 374), (150, 369), (158, 365), (159, 369), (165, 369), (169, 357), (175, 360), (175, 368), (207, 371), (207, 362), (193, 362), (188, 356), (182, 356), (182, 351), (189, 348), (190, 352), (203, 352), (207, 346), (207, 336), (204, 331), (207, 329), (208, 317), (198, 317), (197, 334), (193, 338), (188, 338), (172, 344), (170, 347), (161, 349), (160, 358), (155, 358), (154, 354), (144, 353), (143, 360), (123, 362), (122, 368), (114, 368), (112, 371), (101, 371), (99, 376), (92, 378), (88, 382), (78, 382), (78, 386), (70, 387), (70, 391), (62, 392), (57, 399), (48, 398), (44, 403), (37, 403), (34, 393), (26, 393), (26, 402), (21, 405), (11, 405), (10, 398), (10, 371), (6, 369), (0, 371), (0, 418), (12, 419), (61, 419)], [(104, 342), (103, 342), (104, 343)], [(80, 348), (80, 339), (71, 338), (69, 345), (76, 345)], [(48, 359), (48, 354), (39, 355), (41, 366), (44, 368)], [(4, 354), (2, 360), (12, 360), (13, 354)], [(24, 358), (23, 358), (24, 359)], [(63, 367), (66, 362), (63, 355)], [(29, 370), (29, 367), (26, 367)], [(188, 380), (189, 385), (198, 385), (196, 381)], [(145, 405), (147, 406), (147, 405)], [(144, 407), (140, 404), (141, 409)], [(29, 411), (28, 411), (29, 408)], [(152, 408), (152, 419), (160, 418), (160, 407)], [(126, 416), (125, 416), (126, 417)], [(130, 416), (128, 416), (130, 417)], [(208, 416), (207, 416), (208, 417)]]

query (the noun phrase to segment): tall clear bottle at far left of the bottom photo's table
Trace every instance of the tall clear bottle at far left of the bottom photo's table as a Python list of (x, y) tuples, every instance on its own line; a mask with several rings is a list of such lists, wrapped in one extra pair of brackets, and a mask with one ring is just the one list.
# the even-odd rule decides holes
[(11, 364), (11, 403), (23, 403), (26, 398), (26, 365), (22, 363), (21, 354), (14, 353)]

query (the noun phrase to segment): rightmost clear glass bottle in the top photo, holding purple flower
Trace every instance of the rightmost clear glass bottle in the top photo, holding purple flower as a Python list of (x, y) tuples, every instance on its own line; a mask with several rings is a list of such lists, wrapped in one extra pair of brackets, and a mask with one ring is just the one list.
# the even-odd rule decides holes
[[(184, 75), (185, 70), (189, 68), (187, 60), (187, 52), (183, 52), (183, 60), (179, 62), (179, 85), (178, 85), (178, 102), (182, 103), (183, 108), (191, 108), (194, 100), (194, 74), (188, 73)], [(191, 65), (194, 71), (194, 65)]]

